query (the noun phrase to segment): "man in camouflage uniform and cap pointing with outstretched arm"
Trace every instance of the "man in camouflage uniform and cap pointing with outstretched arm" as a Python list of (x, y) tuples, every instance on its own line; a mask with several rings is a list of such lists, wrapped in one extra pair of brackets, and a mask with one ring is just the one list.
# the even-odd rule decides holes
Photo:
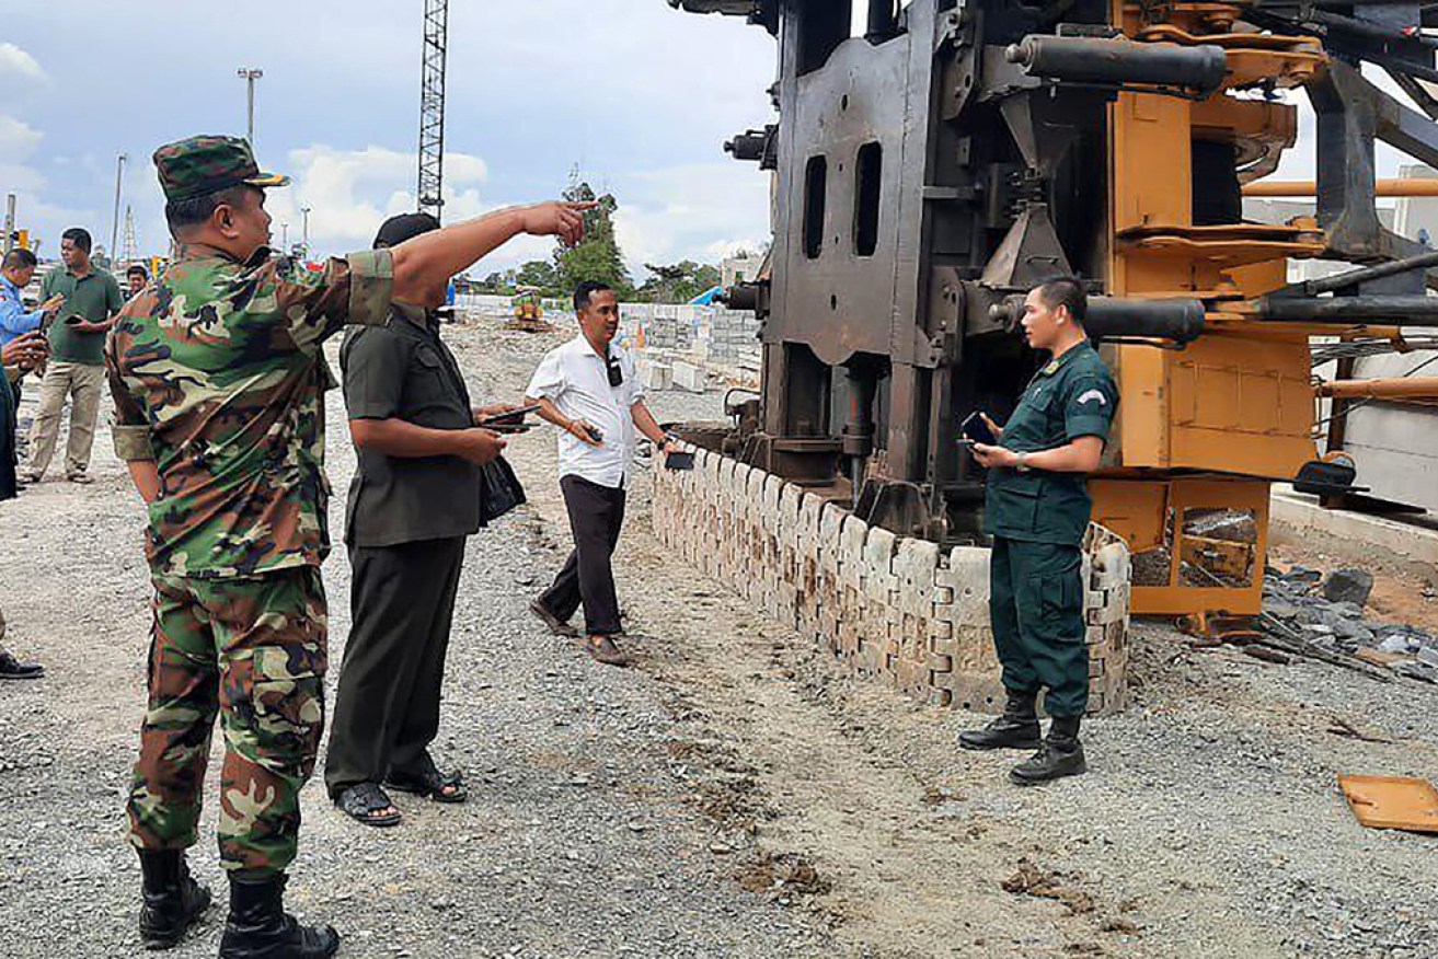
[[(519, 233), (582, 236), (575, 204), (502, 210), (394, 250), (309, 272), (266, 243), (249, 144), (196, 137), (155, 152), (174, 265), (119, 313), (106, 344), (115, 449), (148, 503), (155, 587), (150, 706), (129, 795), (144, 873), (141, 935), (178, 942), (209, 906), (184, 850), (224, 713), (220, 857), (230, 914), (220, 955), (331, 956), (329, 926), (283, 912), (299, 791), (324, 728), (329, 551), (321, 344), (383, 325), (390, 303), (437, 306), (449, 277)], [(423, 242), (421, 242), (423, 240)]]

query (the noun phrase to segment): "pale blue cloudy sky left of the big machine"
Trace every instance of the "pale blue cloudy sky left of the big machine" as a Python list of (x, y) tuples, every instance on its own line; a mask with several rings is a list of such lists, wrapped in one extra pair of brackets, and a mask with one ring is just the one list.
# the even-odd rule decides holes
[[(257, 66), (262, 165), (295, 177), (269, 207), (321, 253), (368, 246), (414, 208), (421, 0), (0, 0), (0, 194), (58, 250), (108, 246), (115, 157), (139, 244), (164, 252), (150, 155), (197, 132), (243, 134), (239, 66)], [(578, 164), (620, 201), (631, 266), (715, 259), (768, 236), (768, 178), (722, 141), (769, 119), (774, 42), (664, 0), (453, 0), (446, 217), (551, 198)], [(512, 244), (480, 269), (545, 256)]]

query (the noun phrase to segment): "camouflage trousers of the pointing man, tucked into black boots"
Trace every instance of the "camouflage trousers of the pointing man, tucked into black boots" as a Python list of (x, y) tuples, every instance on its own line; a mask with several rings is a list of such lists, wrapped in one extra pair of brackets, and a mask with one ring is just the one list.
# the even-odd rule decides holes
[(150, 706), (129, 791), (131, 843), (183, 850), (198, 835), (219, 715), (220, 860), (246, 878), (295, 858), (299, 791), (325, 725), (328, 624), (316, 566), (250, 579), (154, 579)]

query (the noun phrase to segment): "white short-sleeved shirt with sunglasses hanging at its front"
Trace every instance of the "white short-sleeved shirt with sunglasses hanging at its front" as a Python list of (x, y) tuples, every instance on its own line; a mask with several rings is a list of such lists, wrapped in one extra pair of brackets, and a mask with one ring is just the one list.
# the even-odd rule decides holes
[(644, 398), (634, 362), (617, 345), (610, 357), (624, 372), (624, 382), (610, 385), (608, 364), (580, 334), (551, 349), (535, 370), (525, 395), (549, 400), (571, 420), (584, 420), (604, 434), (604, 446), (590, 446), (572, 433), (559, 433), (559, 476), (580, 476), (618, 489), (634, 460), (636, 428), (631, 408)]

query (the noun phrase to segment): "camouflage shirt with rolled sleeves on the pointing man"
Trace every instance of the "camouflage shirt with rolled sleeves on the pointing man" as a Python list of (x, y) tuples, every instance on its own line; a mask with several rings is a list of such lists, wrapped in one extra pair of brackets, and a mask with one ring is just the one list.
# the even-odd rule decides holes
[(115, 451), (155, 460), (147, 555), (157, 575), (255, 577), (329, 552), (321, 344), (384, 325), (388, 250), (309, 272), (259, 250), (194, 246), (121, 311), (105, 344)]

